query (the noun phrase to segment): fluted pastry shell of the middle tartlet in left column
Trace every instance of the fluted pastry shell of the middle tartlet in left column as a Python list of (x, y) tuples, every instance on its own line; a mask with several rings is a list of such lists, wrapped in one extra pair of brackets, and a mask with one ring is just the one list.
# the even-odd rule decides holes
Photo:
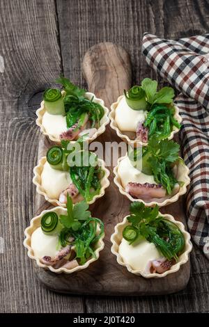
[[(65, 204), (59, 202), (59, 200), (55, 200), (55, 199), (50, 199), (47, 196), (47, 193), (45, 192), (45, 189), (42, 187), (41, 185), (41, 174), (42, 174), (42, 169), (43, 166), (45, 165), (45, 162), (47, 161), (46, 157), (42, 157), (40, 158), (39, 162), (38, 162), (38, 166), (33, 168), (33, 184), (36, 185), (36, 191), (38, 194), (42, 195), (45, 197), (45, 200), (47, 200), (48, 202), (52, 203), (52, 205), (54, 206), (59, 206), (59, 207), (66, 207)], [(104, 192), (105, 189), (107, 189), (107, 187), (109, 186), (109, 170), (105, 167), (104, 165), (104, 160), (102, 159), (98, 159), (98, 163), (100, 164), (100, 166), (102, 167), (102, 170), (104, 170), (104, 176), (102, 177), (102, 180), (100, 180), (101, 182), (101, 189), (100, 189), (100, 194), (96, 195), (93, 197), (93, 199), (88, 202), (89, 205), (91, 205), (92, 203), (95, 202), (95, 200), (97, 200), (98, 198), (101, 198), (102, 196), (104, 196)]]

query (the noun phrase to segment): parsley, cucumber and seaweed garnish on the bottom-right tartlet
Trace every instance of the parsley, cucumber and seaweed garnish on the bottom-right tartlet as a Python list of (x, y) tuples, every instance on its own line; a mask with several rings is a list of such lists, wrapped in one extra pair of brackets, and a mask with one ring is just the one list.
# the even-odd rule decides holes
[(123, 237), (133, 244), (144, 238), (154, 243), (162, 255), (168, 260), (178, 260), (178, 255), (185, 246), (183, 233), (178, 226), (160, 216), (159, 207), (145, 207), (141, 202), (132, 202), (127, 225), (123, 229)]

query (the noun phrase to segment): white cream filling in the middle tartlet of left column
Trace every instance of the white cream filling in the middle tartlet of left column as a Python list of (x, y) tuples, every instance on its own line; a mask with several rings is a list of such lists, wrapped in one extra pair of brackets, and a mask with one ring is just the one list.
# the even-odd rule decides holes
[(53, 169), (46, 161), (41, 174), (41, 185), (50, 199), (59, 199), (62, 191), (72, 182), (68, 171)]

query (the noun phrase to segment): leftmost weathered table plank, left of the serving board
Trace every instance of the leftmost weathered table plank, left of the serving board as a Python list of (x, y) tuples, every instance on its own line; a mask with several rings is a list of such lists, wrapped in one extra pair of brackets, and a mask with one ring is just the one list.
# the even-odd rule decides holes
[(0, 237), (5, 243), (0, 253), (0, 311), (81, 312), (81, 297), (70, 299), (43, 289), (22, 244), (34, 215), (39, 91), (61, 71), (54, 1), (1, 1), (0, 25), (5, 67), (0, 79)]

